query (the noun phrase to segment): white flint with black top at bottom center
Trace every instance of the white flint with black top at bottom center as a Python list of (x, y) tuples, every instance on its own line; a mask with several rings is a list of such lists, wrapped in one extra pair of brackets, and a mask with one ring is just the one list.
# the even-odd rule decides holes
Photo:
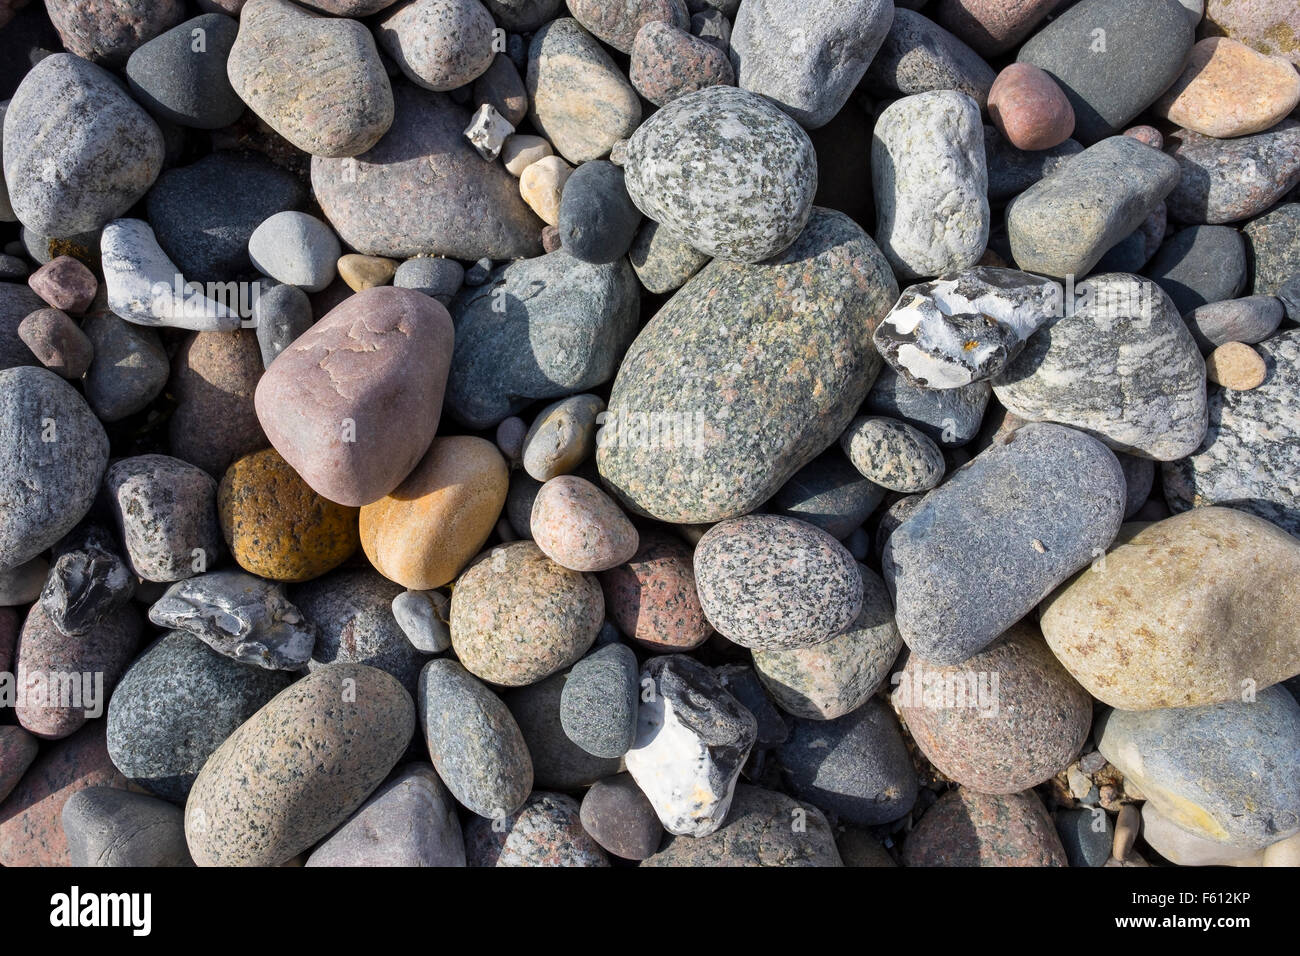
[(642, 695), (628, 773), (664, 830), (706, 836), (727, 819), (758, 722), (708, 667), (684, 654), (650, 658), (641, 682), (654, 693)]

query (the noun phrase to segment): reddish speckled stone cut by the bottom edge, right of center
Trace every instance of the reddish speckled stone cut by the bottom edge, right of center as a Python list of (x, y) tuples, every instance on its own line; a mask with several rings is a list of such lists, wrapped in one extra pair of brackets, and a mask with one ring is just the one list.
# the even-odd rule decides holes
[(1066, 866), (1052, 818), (1032, 791), (944, 793), (902, 848), (907, 866)]

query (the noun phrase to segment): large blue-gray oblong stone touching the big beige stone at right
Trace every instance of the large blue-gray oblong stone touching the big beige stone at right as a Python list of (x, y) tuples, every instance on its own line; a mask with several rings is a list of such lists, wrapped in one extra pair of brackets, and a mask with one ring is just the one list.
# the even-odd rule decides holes
[(881, 564), (898, 632), (927, 661), (961, 663), (1098, 557), (1123, 511), (1123, 470), (1105, 445), (1061, 425), (1022, 427), (889, 536)]

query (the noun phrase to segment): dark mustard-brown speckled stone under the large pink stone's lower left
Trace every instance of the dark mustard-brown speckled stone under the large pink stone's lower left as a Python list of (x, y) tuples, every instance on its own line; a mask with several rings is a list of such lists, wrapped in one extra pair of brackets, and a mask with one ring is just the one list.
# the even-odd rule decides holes
[(356, 550), (358, 509), (318, 496), (274, 449), (226, 470), (217, 511), (239, 567), (274, 581), (320, 578)]

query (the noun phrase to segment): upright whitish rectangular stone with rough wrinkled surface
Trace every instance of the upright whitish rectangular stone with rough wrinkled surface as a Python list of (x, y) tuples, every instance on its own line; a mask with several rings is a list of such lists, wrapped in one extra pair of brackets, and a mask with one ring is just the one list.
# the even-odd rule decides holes
[(905, 280), (979, 261), (988, 245), (988, 166), (979, 107), (953, 90), (904, 96), (871, 137), (876, 242)]

